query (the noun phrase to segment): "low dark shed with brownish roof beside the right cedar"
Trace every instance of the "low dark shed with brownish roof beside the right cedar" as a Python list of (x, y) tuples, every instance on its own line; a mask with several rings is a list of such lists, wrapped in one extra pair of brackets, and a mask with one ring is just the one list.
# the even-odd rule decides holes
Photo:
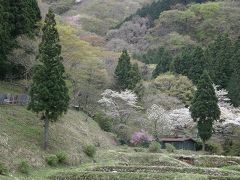
[(197, 142), (192, 138), (161, 138), (159, 140), (163, 148), (166, 147), (166, 144), (172, 144), (176, 149), (191, 150), (196, 151)]

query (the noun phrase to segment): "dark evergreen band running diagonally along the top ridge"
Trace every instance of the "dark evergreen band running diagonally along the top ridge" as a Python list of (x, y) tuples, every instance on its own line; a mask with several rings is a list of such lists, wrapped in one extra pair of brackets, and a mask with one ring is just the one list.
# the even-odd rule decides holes
[[(121, 24), (118, 24), (115, 28), (119, 28), (124, 22), (131, 21), (134, 16), (140, 17), (149, 17), (151, 22), (158, 19), (160, 14), (163, 11), (170, 10), (172, 6), (176, 4), (184, 4), (187, 5), (189, 3), (203, 3), (209, 0), (158, 0), (153, 1), (151, 4), (147, 4), (146, 6), (137, 10), (135, 14), (127, 17)], [(210, 0), (211, 1), (211, 0)]]

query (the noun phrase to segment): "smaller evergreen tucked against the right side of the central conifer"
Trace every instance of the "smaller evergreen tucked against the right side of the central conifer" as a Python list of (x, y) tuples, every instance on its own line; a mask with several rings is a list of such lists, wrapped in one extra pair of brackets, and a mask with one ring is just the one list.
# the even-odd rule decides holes
[(139, 72), (138, 64), (134, 63), (129, 72), (128, 89), (134, 90), (137, 84), (141, 81), (141, 74)]

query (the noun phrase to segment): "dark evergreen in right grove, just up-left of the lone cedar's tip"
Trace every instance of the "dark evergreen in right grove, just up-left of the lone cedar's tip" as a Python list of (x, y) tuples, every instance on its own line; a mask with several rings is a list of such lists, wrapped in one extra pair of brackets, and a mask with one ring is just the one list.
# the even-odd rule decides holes
[(196, 47), (193, 50), (191, 67), (188, 72), (188, 77), (196, 85), (203, 74), (204, 69), (207, 69), (207, 60), (204, 55), (204, 51), (201, 47)]

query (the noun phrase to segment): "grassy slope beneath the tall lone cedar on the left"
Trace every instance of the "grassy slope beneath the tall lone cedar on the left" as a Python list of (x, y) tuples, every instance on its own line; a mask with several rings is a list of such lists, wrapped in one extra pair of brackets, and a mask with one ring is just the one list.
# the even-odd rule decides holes
[[(8, 88), (0, 88), (0, 93), (2, 92), (9, 92)], [(18, 94), (19, 90), (11, 93)], [(98, 148), (112, 146), (110, 136), (101, 131), (95, 121), (84, 113), (73, 110), (69, 110), (58, 122), (51, 124), (50, 148), (47, 152), (41, 148), (42, 136), (43, 123), (26, 107), (0, 107), (0, 159), (12, 169), (15, 169), (21, 160), (27, 160), (33, 167), (45, 166), (45, 156), (58, 150), (68, 154), (69, 164), (76, 165), (89, 161), (83, 153), (85, 145), (94, 144), (99, 146)]]

